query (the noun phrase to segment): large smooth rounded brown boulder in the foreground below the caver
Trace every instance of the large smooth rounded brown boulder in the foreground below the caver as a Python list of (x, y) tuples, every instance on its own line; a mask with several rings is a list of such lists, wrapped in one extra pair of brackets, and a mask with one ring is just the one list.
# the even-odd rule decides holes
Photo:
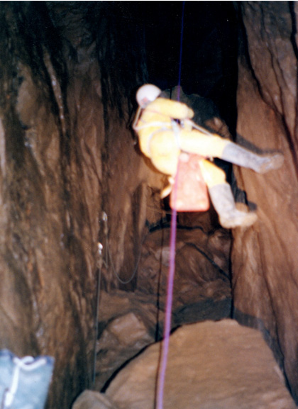
[[(159, 359), (160, 344), (153, 344), (116, 376), (105, 394), (87, 391), (73, 409), (153, 409)], [(296, 405), (260, 332), (221, 320), (185, 325), (171, 335), (164, 407), (294, 409)]]

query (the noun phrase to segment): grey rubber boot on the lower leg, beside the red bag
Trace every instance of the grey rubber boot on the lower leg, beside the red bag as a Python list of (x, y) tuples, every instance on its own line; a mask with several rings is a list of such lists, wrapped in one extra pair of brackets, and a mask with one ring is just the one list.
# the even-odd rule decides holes
[(209, 195), (223, 228), (249, 227), (257, 220), (255, 213), (246, 213), (236, 208), (229, 184), (225, 183), (212, 186), (209, 189)]

